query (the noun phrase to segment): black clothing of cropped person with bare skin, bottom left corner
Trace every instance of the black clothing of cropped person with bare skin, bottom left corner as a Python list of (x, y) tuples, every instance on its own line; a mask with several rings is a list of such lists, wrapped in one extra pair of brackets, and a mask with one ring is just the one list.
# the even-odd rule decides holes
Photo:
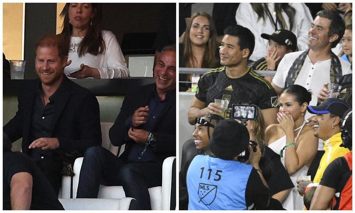
[(16, 173), (32, 175), (31, 210), (64, 210), (50, 182), (45, 178), (31, 158), (21, 152), (4, 151), (2, 168), (3, 210), (11, 210), (10, 183)]

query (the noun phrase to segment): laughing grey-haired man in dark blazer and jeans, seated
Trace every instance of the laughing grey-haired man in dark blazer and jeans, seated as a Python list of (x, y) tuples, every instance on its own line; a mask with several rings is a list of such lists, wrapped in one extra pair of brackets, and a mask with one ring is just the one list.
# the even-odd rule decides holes
[(126, 197), (137, 200), (137, 209), (151, 210), (148, 188), (162, 185), (163, 161), (176, 155), (175, 45), (163, 48), (153, 76), (155, 83), (126, 94), (109, 131), (114, 146), (125, 144), (120, 157), (102, 146), (85, 152), (77, 198), (97, 198), (103, 180), (122, 186)]

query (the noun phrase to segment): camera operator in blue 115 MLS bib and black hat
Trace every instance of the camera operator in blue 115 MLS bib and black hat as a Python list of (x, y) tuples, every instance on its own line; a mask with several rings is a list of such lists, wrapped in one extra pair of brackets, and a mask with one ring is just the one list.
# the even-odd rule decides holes
[[(187, 171), (189, 210), (266, 209), (269, 190), (259, 168), (261, 151), (249, 146), (243, 124), (228, 119), (218, 122), (209, 140), (213, 156), (197, 155)], [(237, 162), (250, 152), (250, 165)]]

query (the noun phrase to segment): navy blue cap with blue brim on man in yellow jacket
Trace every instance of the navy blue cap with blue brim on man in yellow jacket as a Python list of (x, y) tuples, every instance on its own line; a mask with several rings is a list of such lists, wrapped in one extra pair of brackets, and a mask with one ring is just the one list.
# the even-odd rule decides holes
[(307, 106), (307, 111), (311, 114), (327, 114), (343, 117), (346, 110), (350, 107), (343, 100), (338, 98), (327, 98), (318, 106)]

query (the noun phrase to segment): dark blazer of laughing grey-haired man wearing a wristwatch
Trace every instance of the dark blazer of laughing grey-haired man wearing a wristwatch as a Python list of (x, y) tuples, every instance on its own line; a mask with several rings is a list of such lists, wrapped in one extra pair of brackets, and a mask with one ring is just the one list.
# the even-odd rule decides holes
[[(125, 162), (127, 161), (132, 145), (136, 143), (129, 138), (125, 122), (138, 108), (149, 105), (154, 89), (156, 89), (155, 83), (147, 84), (127, 94), (122, 103), (121, 111), (109, 131), (110, 140), (114, 146), (126, 144), (125, 151), (120, 156), (120, 159)], [(152, 147), (152, 151), (157, 161), (161, 164), (163, 164), (165, 158), (176, 155), (175, 91), (174, 89), (174, 92), (172, 91), (173, 95), (166, 98), (162, 113), (157, 118), (152, 130), (154, 137), (157, 139), (157, 145)]]

